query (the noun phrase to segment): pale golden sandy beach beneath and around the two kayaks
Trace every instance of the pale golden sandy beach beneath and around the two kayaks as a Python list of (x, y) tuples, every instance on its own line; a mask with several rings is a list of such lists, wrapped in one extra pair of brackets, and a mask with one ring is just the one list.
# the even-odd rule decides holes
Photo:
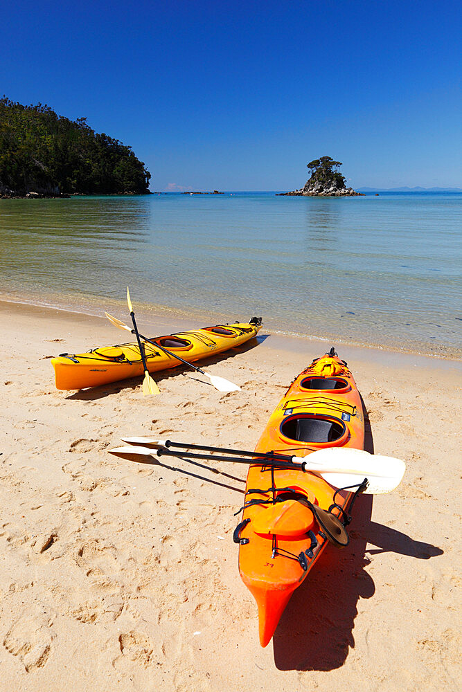
[(229, 394), (183, 368), (155, 376), (158, 397), (138, 379), (60, 392), (51, 356), (120, 333), (55, 309), (3, 302), (0, 314), (0, 690), (456, 689), (460, 361), (336, 345), (364, 399), (368, 450), (405, 459), (407, 473), (391, 495), (359, 498), (350, 545), (324, 552), (262, 649), (232, 540), (245, 466), (107, 450), (151, 432), (254, 448), (331, 344), (264, 325), (260, 343), (206, 362), (242, 387)]

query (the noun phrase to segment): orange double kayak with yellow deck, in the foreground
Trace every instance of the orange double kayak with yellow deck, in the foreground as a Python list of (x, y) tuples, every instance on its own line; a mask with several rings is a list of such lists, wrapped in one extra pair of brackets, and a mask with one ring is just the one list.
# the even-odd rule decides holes
[[(339, 446), (364, 448), (364, 413), (353, 375), (331, 349), (290, 385), (256, 452), (303, 457)], [(319, 519), (326, 516), (321, 510), (330, 509), (338, 525), (348, 523), (346, 511), (355, 490), (336, 489), (316, 473), (250, 466), (234, 540), (240, 544), (240, 576), (258, 605), (262, 646), (269, 643), (292, 593), (328, 544), (330, 532)], [(312, 511), (310, 503), (319, 511)], [(336, 545), (348, 543), (341, 529)]]

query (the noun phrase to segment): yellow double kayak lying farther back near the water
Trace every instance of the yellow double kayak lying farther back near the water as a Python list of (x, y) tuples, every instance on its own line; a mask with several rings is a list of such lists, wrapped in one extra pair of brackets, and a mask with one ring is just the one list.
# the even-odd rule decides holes
[[(232, 325), (215, 325), (194, 331), (179, 331), (169, 336), (152, 338), (154, 343), (178, 354), (185, 361), (199, 361), (211, 354), (221, 353), (253, 339), (262, 326), (261, 318)], [(151, 343), (143, 344), (149, 372), (177, 367), (181, 361)], [(51, 359), (55, 369), (55, 383), (59, 390), (77, 390), (98, 387), (109, 382), (142, 375), (143, 363), (137, 343), (101, 346), (87, 353), (63, 353)]]

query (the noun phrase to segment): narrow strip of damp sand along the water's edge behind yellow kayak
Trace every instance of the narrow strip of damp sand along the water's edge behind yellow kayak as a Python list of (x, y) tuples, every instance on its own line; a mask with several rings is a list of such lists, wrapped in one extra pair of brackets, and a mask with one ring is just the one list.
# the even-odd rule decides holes
[[(96, 297), (91, 296), (91, 298), (95, 300)], [(100, 300), (102, 303), (103, 301), (105, 302), (105, 307), (101, 307), (100, 313), (97, 313), (96, 309), (94, 309), (94, 311), (91, 310), (90, 304), (89, 308), (85, 310), (81, 307), (81, 305), (79, 305), (78, 307), (64, 307), (62, 305), (35, 302), (35, 300), (28, 298), (24, 298), (24, 300), (19, 300), (19, 298), (17, 298), (16, 296), (10, 296), (8, 294), (1, 295), (0, 293), (0, 304), (5, 303), (18, 306), (26, 305), (31, 308), (36, 308), (38, 310), (50, 309), (66, 313), (69, 312), (78, 316), (100, 318), (103, 315), (106, 308), (110, 310), (116, 310), (122, 307), (125, 311), (126, 304), (123, 300), (116, 301), (109, 300), (107, 298), (101, 298)], [(145, 322), (147, 322), (148, 326), (152, 325), (152, 329), (156, 329), (156, 325), (159, 325), (159, 323), (165, 324), (166, 329), (169, 330), (169, 333), (173, 333), (174, 331), (180, 330), (187, 331), (188, 329), (193, 329), (195, 327), (202, 327), (208, 322), (215, 322), (216, 324), (218, 324), (219, 322), (232, 322), (233, 320), (236, 320), (236, 318), (240, 320), (247, 320), (247, 318), (251, 318), (251, 315), (229, 316), (228, 318), (226, 318), (221, 313), (216, 313), (212, 311), (202, 312), (195, 309), (176, 309), (164, 305), (148, 304), (139, 301), (136, 309), (136, 314), (138, 318), (143, 319)], [(263, 315), (263, 327), (267, 329), (267, 327), (265, 327), (265, 315)], [(319, 336), (317, 334), (297, 334), (296, 332), (284, 331), (283, 329), (271, 329), (271, 334), (273, 337), (280, 337), (287, 340), (308, 340), (318, 343), (325, 343), (329, 345), (332, 345), (333, 343), (334, 345), (339, 345), (340, 347), (370, 349), (373, 351), (390, 354), (407, 354), (409, 356), (418, 356), (421, 358), (434, 358), (438, 361), (448, 361), (462, 364), (462, 355), (454, 356), (453, 353), (429, 353), (406, 347), (393, 347), (392, 345), (380, 346), (375, 345), (373, 343), (361, 343), (355, 340), (346, 340), (342, 336)]]

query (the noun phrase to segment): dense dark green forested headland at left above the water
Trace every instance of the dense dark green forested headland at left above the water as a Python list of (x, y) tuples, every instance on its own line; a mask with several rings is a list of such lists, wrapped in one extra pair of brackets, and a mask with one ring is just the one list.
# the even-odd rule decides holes
[(150, 173), (131, 147), (48, 106), (0, 99), (0, 188), (15, 194), (148, 192)]

